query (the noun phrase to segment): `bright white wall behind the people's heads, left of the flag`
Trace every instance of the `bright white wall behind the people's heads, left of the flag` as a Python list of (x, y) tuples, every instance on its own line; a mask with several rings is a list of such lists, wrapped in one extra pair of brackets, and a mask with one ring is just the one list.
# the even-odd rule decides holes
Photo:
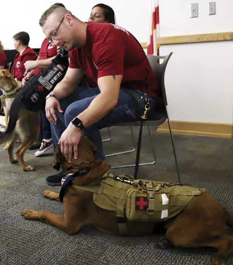
[[(146, 0), (147, 1), (147, 0)], [(140, 41), (147, 40), (149, 6), (142, 0), (12, 0), (1, 1), (0, 40), (5, 48), (14, 49), (12, 36), (20, 31), (29, 33), (31, 48), (40, 48), (44, 34), (38, 21), (43, 12), (52, 4), (61, 2), (77, 18), (87, 21), (91, 8), (103, 3), (111, 6), (116, 14), (117, 24), (126, 28)]]

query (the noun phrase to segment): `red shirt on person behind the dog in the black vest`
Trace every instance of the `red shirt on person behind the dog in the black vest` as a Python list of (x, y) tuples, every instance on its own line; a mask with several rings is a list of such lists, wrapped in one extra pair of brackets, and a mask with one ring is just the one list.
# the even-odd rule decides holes
[[(54, 43), (49, 44), (49, 40), (45, 38), (41, 44), (40, 51), (39, 51), (38, 55), (39, 55), (38, 60), (51, 58), (51, 57), (57, 55), (57, 46)], [(43, 68), (35, 68), (34, 72), (33, 72), (34, 76), (39, 74), (43, 70), (44, 70)]]

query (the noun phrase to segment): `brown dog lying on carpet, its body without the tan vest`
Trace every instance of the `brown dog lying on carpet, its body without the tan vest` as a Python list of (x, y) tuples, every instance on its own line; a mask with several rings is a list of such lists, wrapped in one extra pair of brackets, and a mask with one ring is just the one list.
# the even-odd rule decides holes
[[(78, 145), (78, 158), (68, 163), (57, 146), (54, 155), (54, 168), (59, 170), (60, 164), (65, 173), (85, 171), (84, 175), (76, 176), (72, 185), (67, 185), (63, 197), (64, 215), (49, 211), (36, 212), (24, 210), (25, 219), (36, 219), (52, 224), (69, 235), (77, 233), (86, 224), (95, 226), (98, 230), (120, 235), (116, 212), (98, 207), (93, 202), (93, 192), (81, 189), (89, 185), (100, 184), (102, 176), (110, 169), (106, 161), (96, 159), (93, 151), (96, 147), (86, 137), (82, 137)], [(76, 185), (76, 186), (75, 186)], [(81, 188), (77, 188), (80, 185)], [(44, 197), (59, 201), (59, 194), (45, 190)], [(223, 208), (210, 194), (194, 196), (183, 210), (176, 216), (164, 222), (167, 229), (165, 237), (158, 246), (175, 247), (216, 247), (218, 252), (210, 259), (212, 265), (222, 265), (224, 259), (233, 250), (233, 237), (226, 237), (226, 226), (233, 228), (233, 214)], [(126, 219), (128, 235), (140, 236), (153, 232), (155, 222), (132, 222)], [(138, 229), (140, 227), (140, 229)]]

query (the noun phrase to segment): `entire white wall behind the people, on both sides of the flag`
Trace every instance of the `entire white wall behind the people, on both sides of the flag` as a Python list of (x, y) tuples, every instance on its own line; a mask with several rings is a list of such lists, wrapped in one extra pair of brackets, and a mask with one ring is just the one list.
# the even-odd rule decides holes
[[(216, 15), (208, 15), (209, 0), (159, 0), (160, 36), (177, 36), (233, 31), (233, 1), (215, 0)], [(42, 13), (55, 0), (1, 1), (0, 40), (13, 49), (12, 36), (20, 31), (30, 35), (29, 46), (39, 48), (44, 39), (38, 25)], [(86, 21), (91, 8), (99, 3), (61, 1), (78, 18)], [(148, 0), (105, 0), (117, 24), (140, 42), (148, 39)], [(80, 4), (81, 3), (81, 4)], [(189, 18), (189, 4), (199, 3), (199, 17)], [(4, 23), (3, 23), (4, 22)], [(160, 54), (173, 51), (167, 65), (165, 83), (172, 120), (233, 123), (233, 41), (163, 45)]]

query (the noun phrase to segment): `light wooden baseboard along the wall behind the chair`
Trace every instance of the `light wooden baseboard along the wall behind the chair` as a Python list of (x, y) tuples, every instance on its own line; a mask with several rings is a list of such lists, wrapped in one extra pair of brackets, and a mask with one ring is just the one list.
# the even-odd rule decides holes
[[(232, 138), (232, 124), (205, 123), (192, 121), (171, 121), (172, 133)], [(157, 132), (169, 132), (167, 121), (159, 126)]]

